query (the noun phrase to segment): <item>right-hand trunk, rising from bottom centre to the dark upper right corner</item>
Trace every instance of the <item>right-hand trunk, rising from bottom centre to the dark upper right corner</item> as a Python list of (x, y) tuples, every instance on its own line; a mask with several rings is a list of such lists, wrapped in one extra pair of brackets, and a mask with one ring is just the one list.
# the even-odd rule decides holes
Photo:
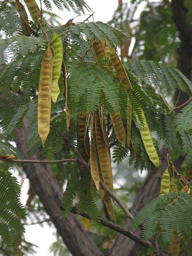
[[(191, 77), (192, 71), (192, 25), (187, 20), (187, 9), (184, 6), (184, 0), (172, 0), (171, 2), (173, 21), (177, 26), (180, 35), (180, 48), (178, 49), (178, 62), (177, 68), (188, 78)], [(179, 97), (179, 92), (175, 94), (175, 102)], [(186, 93), (181, 92), (177, 106), (180, 106), (188, 100)], [(180, 110), (176, 111), (179, 112)], [(180, 157), (174, 163), (176, 169), (180, 168), (183, 158)], [(161, 152), (162, 170), (165, 171), (167, 167), (167, 156), (165, 151)], [(159, 193), (159, 185), (161, 179), (160, 169), (155, 169), (154, 173), (149, 174), (141, 186), (131, 209), (131, 213), (134, 215), (140, 208), (144, 207), (150, 200), (154, 199)], [(130, 225), (130, 219), (125, 221), (124, 228), (128, 229)], [(135, 232), (137, 235), (141, 235), (141, 231), (137, 229)], [(135, 256), (139, 249), (139, 245), (128, 237), (124, 237), (121, 234), (116, 238), (111, 250), (111, 256)]]

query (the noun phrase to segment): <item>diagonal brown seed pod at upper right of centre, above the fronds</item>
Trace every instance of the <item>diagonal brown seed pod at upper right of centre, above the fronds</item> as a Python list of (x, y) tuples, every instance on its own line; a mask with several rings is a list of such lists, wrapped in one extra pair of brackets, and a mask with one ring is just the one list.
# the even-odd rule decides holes
[(115, 72), (117, 73), (121, 84), (123, 85), (126, 93), (129, 94), (132, 90), (132, 85), (129, 81), (129, 77), (120, 61), (118, 54), (113, 49), (110, 48), (109, 55), (110, 55), (111, 63), (115, 68)]

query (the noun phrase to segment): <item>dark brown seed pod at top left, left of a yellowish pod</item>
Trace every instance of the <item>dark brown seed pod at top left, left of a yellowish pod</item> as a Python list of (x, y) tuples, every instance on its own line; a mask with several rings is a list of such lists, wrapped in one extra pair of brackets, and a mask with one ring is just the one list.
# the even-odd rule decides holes
[[(29, 26), (27, 26), (28, 23), (28, 16), (27, 13), (24, 9), (24, 6), (22, 3), (20, 3), (19, 0), (15, 0), (15, 7), (17, 11), (19, 12), (19, 16), (21, 18), (21, 25), (22, 25), (22, 30), (23, 30), (23, 35), (30, 37), (31, 31), (29, 29)], [(21, 14), (20, 14), (21, 13)]]

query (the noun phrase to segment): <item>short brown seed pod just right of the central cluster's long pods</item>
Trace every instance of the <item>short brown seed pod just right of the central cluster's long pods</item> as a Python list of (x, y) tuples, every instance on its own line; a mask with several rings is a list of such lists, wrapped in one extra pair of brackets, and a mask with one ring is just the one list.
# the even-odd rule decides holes
[(117, 139), (125, 147), (126, 133), (119, 112), (110, 114)]

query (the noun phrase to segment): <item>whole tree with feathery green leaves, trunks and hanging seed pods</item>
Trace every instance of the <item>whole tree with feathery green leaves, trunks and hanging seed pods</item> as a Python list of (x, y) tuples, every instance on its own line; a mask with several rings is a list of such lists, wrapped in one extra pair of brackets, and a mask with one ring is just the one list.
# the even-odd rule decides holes
[[(104, 255), (105, 251), (108, 255), (135, 255), (138, 245), (144, 247), (143, 254), (149, 248), (156, 255), (190, 255), (192, 33), (184, 1), (171, 3), (181, 40), (178, 69), (156, 62), (160, 54), (156, 61), (120, 61), (117, 45), (121, 46), (123, 59), (128, 57), (128, 48), (122, 39), (129, 44), (129, 35), (121, 26), (131, 34), (127, 20), (118, 24), (116, 19), (124, 18), (127, 10), (121, 1), (111, 21), (116, 27), (89, 22), (93, 13), (84, 1), (53, 0), (59, 9), (71, 8), (78, 15), (84, 10), (90, 12), (82, 23), (70, 20), (59, 26), (45, 20), (42, 7), (39, 9), (34, 0), (24, 2), (33, 21), (28, 20), (19, 0), (2, 1), (0, 7), (4, 38), (0, 40), (2, 254), (23, 255), (31, 250), (23, 236), (25, 215), (44, 209), (72, 255)], [(43, 2), (50, 10), (50, 1)], [(167, 1), (160, 4), (171, 12)], [(148, 7), (151, 5), (148, 3)], [(144, 12), (150, 16), (151, 10)], [(159, 5), (155, 10), (161, 21), (165, 13)], [(135, 35), (146, 26), (142, 15)], [(175, 32), (174, 24), (169, 22)], [(163, 23), (164, 28), (166, 25)], [(175, 47), (170, 47), (169, 52), (164, 50), (164, 61), (168, 63), (174, 63), (178, 46), (174, 32), (170, 35), (174, 36)], [(152, 39), (157, 42), (154, 52), (161, 52), (157, 38)], [(132, 58), (138, 56), (141, 40), (138, 36)], [(140, 55), (152, 59), (148, 44), (145, 37), (146, 51)], [(169, 95), (175, 97), (175, 103), (167, 100)], [(125, 206), (126, 199), (121, 200), (113, 192), (111, 162), (119, 164), (124, 158), (129, 160), (126, 169), (153, 173), (141, 185), (131, 212)], [(186, 178), (179, 171), (183, 162), (184, 169), (188, 165)], [(26, 210), (19, 201), (19, 185), (9, 171), (15, 165), (31, 183)], [(75, 197), (77, 206), (72, 204)], [(111, 199), (118, 205), (115, 211)], [(103, 209), (102, 217), (99, 208)], [(80, 221), (78, 216), (89, 221)], [(132, 228), (139, 227), (135, 232), (130, 231), (130, 219)], [(87, 232), (85, 227), (89, 229), (90, 225), (97, 233)], [(101, 230), (101, 225), (107, 229)], [(109, 236), (108, 229), (115, 232)], [(114, 240), (112, 246), (110, 239)], [(54, 248), (60, 255), (66, 250), (59, 238)]]

